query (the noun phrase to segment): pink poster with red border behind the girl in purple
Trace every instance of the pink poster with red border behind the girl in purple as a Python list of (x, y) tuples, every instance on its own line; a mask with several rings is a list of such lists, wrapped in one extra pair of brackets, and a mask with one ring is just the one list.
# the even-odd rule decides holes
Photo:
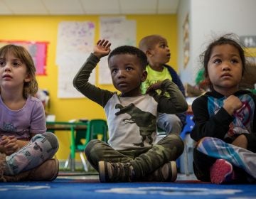
[(48, 42), (37, 41), (0, 41), (0, 48), (4, 45), (21, 45), (31, 54), (36, 66), (36, 75), (46, 75), (46, 58)]

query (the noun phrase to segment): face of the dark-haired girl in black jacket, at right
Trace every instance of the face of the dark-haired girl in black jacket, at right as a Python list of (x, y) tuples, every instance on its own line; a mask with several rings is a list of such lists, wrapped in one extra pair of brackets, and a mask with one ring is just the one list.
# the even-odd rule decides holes
[(238, 49), (230, 44), (215, 45), (208, 62), (208, 78), (214, 90), (220, 93), (237, 91), (242, 78), (242, 60)]

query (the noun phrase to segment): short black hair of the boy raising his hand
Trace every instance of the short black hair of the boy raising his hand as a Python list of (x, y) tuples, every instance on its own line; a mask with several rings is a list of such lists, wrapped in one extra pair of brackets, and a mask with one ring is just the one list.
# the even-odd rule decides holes
[(148, 65), (146, 54), (142, 50), (139, 50), (139, 48), (136, 48), (132, 45), (121, 45), (117, 48), (114, 48), (114, 50), (110, 52), (107, 60), (110, 61), (110, 58), (112, 56), (120, 54), (137, 55), (137, 58), (139, 58), (139, 62), (143, 70), (145, 70), (146, 65)]

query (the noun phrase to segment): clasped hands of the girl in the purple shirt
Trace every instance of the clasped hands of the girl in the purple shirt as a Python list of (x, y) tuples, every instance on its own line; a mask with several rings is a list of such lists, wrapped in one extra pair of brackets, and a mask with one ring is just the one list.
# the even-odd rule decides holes
[(2, 136), (0, 146), (4, 150), (4, 154), (11, 155), (18, 151), (18, 143), (15, 136)]

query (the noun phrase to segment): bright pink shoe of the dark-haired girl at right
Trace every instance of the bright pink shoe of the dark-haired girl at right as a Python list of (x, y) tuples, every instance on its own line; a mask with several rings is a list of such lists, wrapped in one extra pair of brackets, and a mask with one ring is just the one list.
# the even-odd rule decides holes
[(233, 166), (224, 159), (218, 159), (210, 168), (210, 181), (215, 184), (229, 183), (235, 179)]

